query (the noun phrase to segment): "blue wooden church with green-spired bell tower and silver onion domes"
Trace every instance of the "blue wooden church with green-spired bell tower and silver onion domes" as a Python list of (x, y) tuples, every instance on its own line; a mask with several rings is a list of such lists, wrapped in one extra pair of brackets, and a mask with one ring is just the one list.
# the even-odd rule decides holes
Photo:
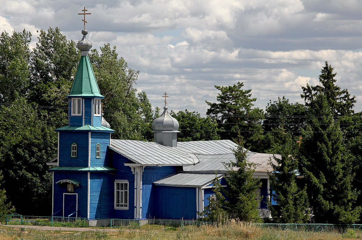
[[(58, 132), (52, 172), (52, 214), (90, 219), (196, 219), (208, 205), (215, 172), (226, 187), (224, 162), (234, 159), (230, 140), (177, 142), (179, 124), (167, 106), (152, 124), (154, 142), (111, 139), (102, 117), (101, 95), (88, 58), (92, 47), (83, 30), (81, 58), (68, 101), (68, 126)], [(248, 152), (260, 212), (269, 215), (267, 171), (271, 155)]]

